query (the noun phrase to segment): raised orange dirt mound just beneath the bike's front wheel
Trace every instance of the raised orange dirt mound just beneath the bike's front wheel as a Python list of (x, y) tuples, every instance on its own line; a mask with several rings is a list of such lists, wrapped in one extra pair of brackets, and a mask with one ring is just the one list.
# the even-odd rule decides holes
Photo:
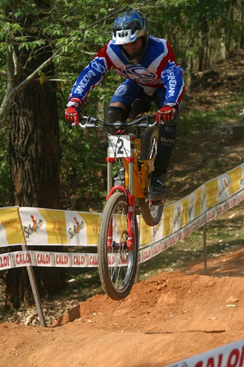
[[(242, 330), (233, 315), (244, 308), (242, 278), (210, 278), (173, 272), (135, 284), (121, 302), (97, 295), (81, 303), (54, 325), (79, 319), (106, 331), (170, 333)], [(231, 305), (230, 305), (231, 304)], [(229, 320), (232, 320), (230, 323)]]

